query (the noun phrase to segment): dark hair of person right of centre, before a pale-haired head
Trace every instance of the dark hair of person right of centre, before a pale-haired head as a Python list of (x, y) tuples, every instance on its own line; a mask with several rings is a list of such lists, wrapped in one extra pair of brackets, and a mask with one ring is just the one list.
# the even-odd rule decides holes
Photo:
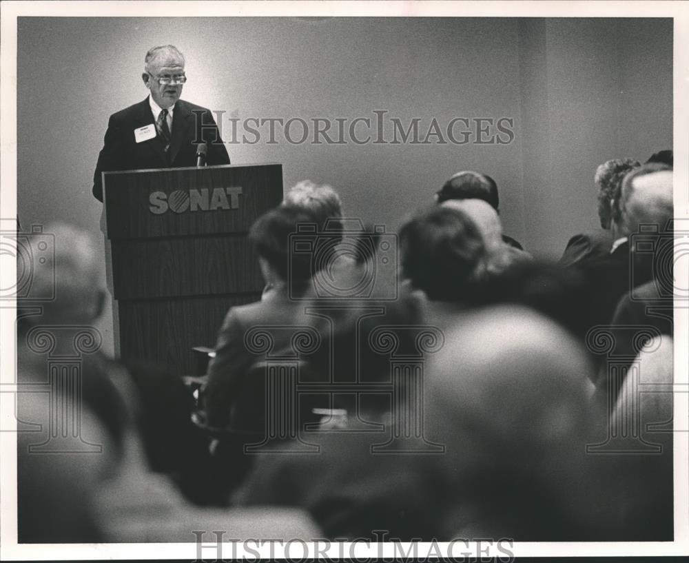
[(466, 298), (484, 258), (481, 235), (469, 215), (433, 207), (400, 229), (402, 273), (431, 300)]

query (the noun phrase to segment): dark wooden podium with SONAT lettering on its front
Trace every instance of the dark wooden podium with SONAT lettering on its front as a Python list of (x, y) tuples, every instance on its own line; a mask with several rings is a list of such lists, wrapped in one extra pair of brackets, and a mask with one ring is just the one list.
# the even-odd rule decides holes
[(104, 172), (115, 353), (192, 373), (227, 309), (260, 298), (249, 227), (282, 201), (282, 165)]

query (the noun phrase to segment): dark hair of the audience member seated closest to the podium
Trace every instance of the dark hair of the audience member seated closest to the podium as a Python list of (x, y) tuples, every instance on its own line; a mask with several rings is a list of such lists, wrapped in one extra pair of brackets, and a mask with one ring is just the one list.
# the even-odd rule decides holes
[(291, 236), (299, 225), (318, 224), (308, 209), (276, 207), (260, 216), (251, 225), (249, 240), (256, 253), (275, 269), (280, 278), (289, 283), (307, 283), (311, 278), (311, 254), (291, 252)]

